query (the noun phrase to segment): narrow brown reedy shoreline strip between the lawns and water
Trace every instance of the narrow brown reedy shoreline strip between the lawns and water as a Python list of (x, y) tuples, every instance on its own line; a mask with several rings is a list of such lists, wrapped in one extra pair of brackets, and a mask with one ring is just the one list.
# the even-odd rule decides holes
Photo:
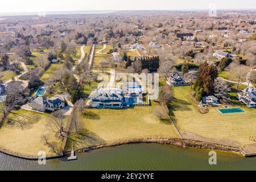
[[(88, 152), (91, 150), (97, 150), (100, 148), (108, 148), (108, 147), (121, 146), (124, 144), (136, 144), (136, 143), (156, 143), (156, 144), (165, 144), (165, 145), (168, 144), (168, 145), (183, 147), (183, 148), (199, 148), (203, 150), (217, 150), (222, 152), (232, 152), (233, 154), (237, 154), (243, 157), (256, 156), (256, 154), (253, 154), (253, 155), (245, 154), (242, 148), (238, 148), (238, 147), (225, 146), (222, 144), (204, 142), (199, 140), (168, 138), (168, 137), (146, 137), (146, 138), (140, 138), (140, 139), (121, 140), (118, 142), (104, 143), (104, 144), (99, 144), (97, 146), (82, 148), (82, 149), (76, 150), (76, 152), (85, 153), (85, 152)], [(15, 158), (20, 158), (20, 159), (26, 159), (26, 160), (39, 159), (38, 157), (19, 155), (14, 152), (6, 151), (3, 148), (0, 148), (0, 152), (6, 155), (13, 156)], [(65, 156), (69, 155), (70, 153), (71, 151), (66, 151), (66, 152), (63, 152), (63, 155), (49, 156), (46, 159), (50, 160), (50, 159), (65, 158)]]

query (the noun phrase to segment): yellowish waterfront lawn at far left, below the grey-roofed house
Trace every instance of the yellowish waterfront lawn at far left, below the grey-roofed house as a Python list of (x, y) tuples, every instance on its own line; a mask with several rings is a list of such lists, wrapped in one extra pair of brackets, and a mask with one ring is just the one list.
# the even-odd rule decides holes
[(45, 151), (47, 156), (55, 155), (50, 148), (44, 145), (42, 135), (49, 135), (51, 142), (61, 145), (61, 138), (55, 137), (55, 133), (49, 127), (51, 119), (49, 114), (40, 114), (32, 111), (19, 110), (17, 113), (33, 115), (35, 121), (21, 128), (18, 125), (3, 123), (0, 130), (0, 147), (5, 148), (12, 154), (29, 157), (38, 157), (39, 151)]

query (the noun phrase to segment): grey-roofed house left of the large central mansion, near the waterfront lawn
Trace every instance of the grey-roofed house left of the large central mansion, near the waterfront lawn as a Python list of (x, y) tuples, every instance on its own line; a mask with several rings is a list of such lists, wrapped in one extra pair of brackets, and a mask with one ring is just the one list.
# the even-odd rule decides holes
[(46, 110), (55, 111), (61, 109), (65, 104), (60, 98), (47, 99), (45, 97), (37, 97), (30, 102), (30, 106), (32, 110), (45, 112)]

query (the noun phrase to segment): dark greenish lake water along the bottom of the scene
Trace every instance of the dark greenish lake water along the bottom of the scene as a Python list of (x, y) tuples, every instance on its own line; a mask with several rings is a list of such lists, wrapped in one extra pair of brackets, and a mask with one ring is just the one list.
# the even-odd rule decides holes
[(0, 154), (0, 170), (256, 170), (256, 158), (217, 152), (217, 165), (208, 164), (209, 151), (161, 144), (127, 144), (78, 154), (78, 160), (38, 162)]

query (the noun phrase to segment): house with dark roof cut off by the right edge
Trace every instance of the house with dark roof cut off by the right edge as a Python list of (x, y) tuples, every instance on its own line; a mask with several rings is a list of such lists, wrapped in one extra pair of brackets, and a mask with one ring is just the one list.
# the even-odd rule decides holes
[(238, 93), (237, 98), (247, 107), (256, 107), (256, 89), (253, 86), (249, 86)]

